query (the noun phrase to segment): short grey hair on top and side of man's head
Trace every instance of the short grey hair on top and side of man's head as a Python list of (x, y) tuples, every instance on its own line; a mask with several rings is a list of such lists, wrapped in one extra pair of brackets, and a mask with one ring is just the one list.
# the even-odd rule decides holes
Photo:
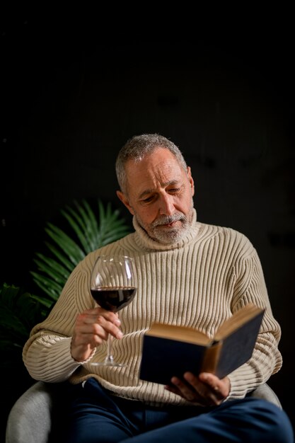
[(187, 163), (183, 158), (183, 154), (178, 146), (170, 142), (166, 137), (159, 134), (134, 135), (134, 137), (127, 140), (125, 145), (120, 149), (115, 163), (117, 181), (122, 192), (127, 193), (127, 176), (125, 169), (127, 161), (141, 161), (144, 159), (144, 156), (151, 154), (159, 148), (168, 149), (178, 160), (180, 166), (187, 172)]

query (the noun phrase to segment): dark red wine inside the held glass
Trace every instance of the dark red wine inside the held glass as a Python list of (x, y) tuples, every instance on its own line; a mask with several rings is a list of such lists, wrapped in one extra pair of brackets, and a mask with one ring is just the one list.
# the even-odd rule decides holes
[(132, 301), (135, 287), (97, 287), (91, 289), (93, 299), (107, 311), (117, 312)]

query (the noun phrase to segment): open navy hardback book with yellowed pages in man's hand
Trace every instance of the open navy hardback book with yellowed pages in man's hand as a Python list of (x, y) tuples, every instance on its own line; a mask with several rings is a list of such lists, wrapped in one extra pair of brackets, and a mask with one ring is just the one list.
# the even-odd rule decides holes
[(213, 339), (185, 326), (153, 323), (144, 334), (139, 378), (169, 384), (187, 371), (223, 379), (250, 359), (265, 309), (248, 304), (219, 327)]

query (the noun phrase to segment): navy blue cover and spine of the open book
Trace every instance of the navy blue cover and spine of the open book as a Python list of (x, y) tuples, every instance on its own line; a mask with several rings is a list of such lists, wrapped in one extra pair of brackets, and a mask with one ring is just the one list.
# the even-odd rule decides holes
[(212, 372), (220, 379), (250, 359), (264, 311), (260, 311), (224, 338), (209, 345), (144, 335), (139, 379), (169, 384), (185, 372)]

